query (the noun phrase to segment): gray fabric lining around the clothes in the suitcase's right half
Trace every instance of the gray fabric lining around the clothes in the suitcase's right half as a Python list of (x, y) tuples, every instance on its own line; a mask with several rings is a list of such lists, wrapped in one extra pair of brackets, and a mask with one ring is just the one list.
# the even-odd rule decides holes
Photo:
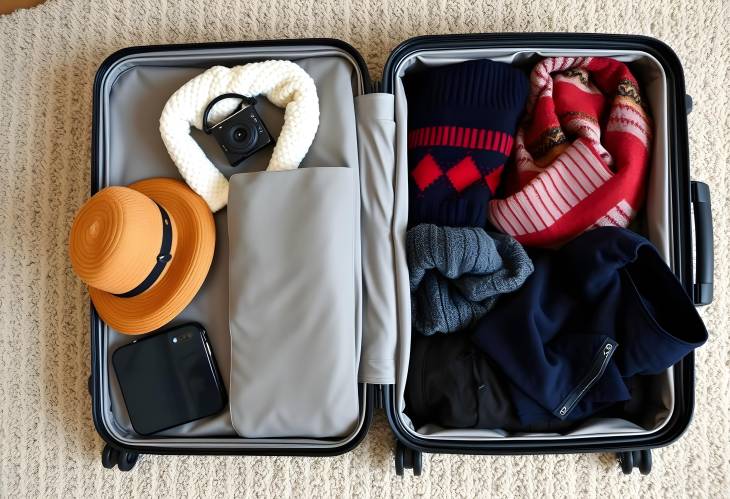
[(405, 414), (405, 400), (403, 397), (408, 373), (408, 358), (410, 352), (410, 304), (408, 294), (408, 271), (405, 262), (405, 253), (402, 250), (405, 239), (405, 228), (408, 217), (408, 157), (407, 143), (407, 101), (401, 83), (401, 78), (412, 70), (428, 66), (453, 64), (469, 59), (489, 58), (496, 61), (521, 66), (529, 71), (542, 57), (549, 56), (604, 56), (614, 57), (626, 62), (634, 75), (642, 84), (642, 89), (649, 101), (652, 116), (655, 121), (655, 139), (652, 150), (650, 178), (646, 209), (643, 212), (646, 235), (657, 246), (660, 254), (670, 267), (671, 261), (671, 202), (669, 185), (669, 168), (667, 164), (668, 133), (667, 133), (667, 82), (661, 64), (651, 55), (640, 51), (600, 51), (600, 50), (555, 50), (541, 49), (471, 49), (471, 50), (434, 50), (420, 51), (404, 58), (396, 68), (395, 85), (395, 114), (396, 114), (396, 191), (394, 238), (396, 246), (396, 288), (399, 297), (398, 303), (398, 362), (396, 367), (396, 408), (398, 417), (408, 431), (421, 438), (435, 440), (501, 440), (514, 438), (530, 438), (532, 440), (552, 440), (555, 438), (583, 438), (583, 437), (610, 437), (618, 434), (631, 433), (648, 435), (659, 431), (671, 417), (674, 408), (674, 383), (672, 369), (651, 378), (654, 414), (647, 414), (642, 424), (637, 426), (623, 419), (592, 419), (584, 422), (577, 429), (566, 435), (557, 434), (530, 434), (508, 435), (502, 430), (451, 430), (434, 425), (414, 428)]

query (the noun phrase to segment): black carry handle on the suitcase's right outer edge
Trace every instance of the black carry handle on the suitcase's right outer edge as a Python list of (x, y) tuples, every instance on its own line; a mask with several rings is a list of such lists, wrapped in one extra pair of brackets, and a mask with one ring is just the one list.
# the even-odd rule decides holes
[(696, 275), (692, 296), (695, 304), (712, 303), (715, 254), (712, 236), (710, 188), (704, 182), (692, 181), (691, 194), (695, 219)]

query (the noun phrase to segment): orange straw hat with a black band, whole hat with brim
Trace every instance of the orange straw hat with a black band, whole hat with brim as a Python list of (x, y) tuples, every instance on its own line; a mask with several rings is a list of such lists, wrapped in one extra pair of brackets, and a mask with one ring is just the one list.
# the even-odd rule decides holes
[(127, 334), (150, 332), (182, 312), (214, 249), (210, 208), (169, 178), (102, 189), (77, 213), (69, 242), (71, 265), (99, 316)]

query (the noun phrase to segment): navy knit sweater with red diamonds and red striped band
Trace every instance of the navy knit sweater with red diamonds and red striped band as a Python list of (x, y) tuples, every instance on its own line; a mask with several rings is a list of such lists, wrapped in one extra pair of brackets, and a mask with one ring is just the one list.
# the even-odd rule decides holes
[(408, 100), (408, 224), (484, 227), (512, 151), (529, 83), (488, 59), (404, 79)]

